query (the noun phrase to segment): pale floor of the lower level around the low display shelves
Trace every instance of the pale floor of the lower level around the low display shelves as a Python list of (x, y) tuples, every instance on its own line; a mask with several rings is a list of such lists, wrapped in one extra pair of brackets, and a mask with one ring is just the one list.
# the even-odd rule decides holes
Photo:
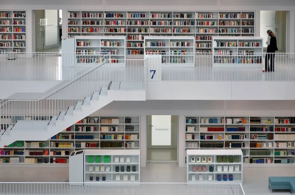
[[(67, 182), (68, 168), (60, 167), (24, 167), (0, 166), (0, 182), (25, 182), (27, 184), (0, 183), (0, 195), (83, 195), (106, 192), (114, 194), (121, 190), (128, 195), (239, 195), (236, 185), (219, 184), (210, 188), (206, 185), (186, 186), (186, 168), (179, 168), (177, 163), (147, 163), (141, 168), (141, 182), (150, 183), (138, 186), (103, 186), (103, 187), (69, 187), (67, 184), (34, 184), (33, 182)], [(274, 191), (268, 189), (268, 176), (295, 176), (294, 168), (244, 168), (243, 189), (245, 195), (291, 195), (289, 191)], [(167, 183), (167, 184), (163, 184)], [(168, 184), (172, 183), (172, 184)], [(182, 183), (182, 184), (176, 184)], [(57, 189), (57, 191), (55, 191)], [(50, 192), (55, 193), (50, 193)], [(50, 192), (49, 192), (50, 191)], [(46, 193), (47, 192), (47, 193)]]

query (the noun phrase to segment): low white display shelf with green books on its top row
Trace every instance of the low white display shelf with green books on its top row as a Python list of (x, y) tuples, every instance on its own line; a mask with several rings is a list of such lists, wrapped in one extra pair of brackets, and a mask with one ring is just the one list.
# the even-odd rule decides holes
[(88, 149), (84, 152), (84, 162), (85, 185), (140, 182), (139, 149)]

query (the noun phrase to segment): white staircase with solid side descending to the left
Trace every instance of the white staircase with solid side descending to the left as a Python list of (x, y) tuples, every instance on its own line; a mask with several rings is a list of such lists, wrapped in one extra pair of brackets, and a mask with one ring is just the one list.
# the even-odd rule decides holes
[[(114, 88), (114, 87), (113, 87)], [(109, 87), (109, 89), (112, 89)], [(145, 101), (145, 90), (108, 90), (101, 87), (100, 92), (93, 92), (84, 101), (77, 101), (75, 106), (59, 112), (50, 121), (17, 121), (1, 133), (0, 148), (18, 141), (45, 141), (74, 123), (84, 119), (112, 101)]]

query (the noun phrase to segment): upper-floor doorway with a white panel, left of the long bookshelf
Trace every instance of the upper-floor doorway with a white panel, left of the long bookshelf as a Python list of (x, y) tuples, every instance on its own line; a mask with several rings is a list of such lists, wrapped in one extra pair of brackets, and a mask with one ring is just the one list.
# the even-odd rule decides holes
[(61, 10), (35, 10), (37, 52), (61, 51)]

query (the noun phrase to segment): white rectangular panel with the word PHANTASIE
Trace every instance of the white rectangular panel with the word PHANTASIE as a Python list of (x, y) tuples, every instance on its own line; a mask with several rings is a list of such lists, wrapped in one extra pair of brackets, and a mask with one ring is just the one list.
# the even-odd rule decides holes
[(171, 146), (171, 115), (151, 116), (151, 146)]

